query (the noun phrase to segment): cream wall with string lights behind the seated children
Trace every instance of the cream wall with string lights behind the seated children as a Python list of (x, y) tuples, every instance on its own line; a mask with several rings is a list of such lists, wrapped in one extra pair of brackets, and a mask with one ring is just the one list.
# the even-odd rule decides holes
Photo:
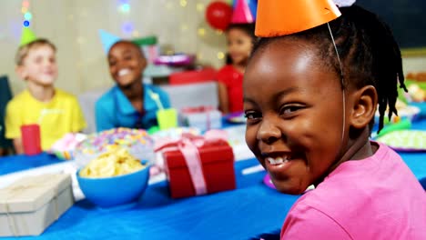
[[(224, 35), (211, 29), (204, 13), (210, 0), (128, 0), (128, 14), (118, 11), (120, 0), (31, 0), (31, 28), (57, 46), (57, 86), (74, 94), (112, 85), (98, 29), (124, 38), (157, 35), (159, 44), (177, 52), (198, 55), (202, 63), (219, 67), (225, 52)], [(8, 75), (14, 93), (25, 82), (15, 75), (14, 55), (21, 34), (22, 0), (0, 2), (0, 75)], [(122, 26), (132, 23), (127, 34)], [(406, 72), (426, 71), (426, 56), (408, 57)]]

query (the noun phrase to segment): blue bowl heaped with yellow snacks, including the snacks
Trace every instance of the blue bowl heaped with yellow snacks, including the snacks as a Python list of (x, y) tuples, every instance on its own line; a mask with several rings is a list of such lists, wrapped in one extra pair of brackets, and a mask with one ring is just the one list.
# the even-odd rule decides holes
[(76, 172), (82, 193), (101, 208), (137, 205), (147, 188), (149, 162), (112, 145)]

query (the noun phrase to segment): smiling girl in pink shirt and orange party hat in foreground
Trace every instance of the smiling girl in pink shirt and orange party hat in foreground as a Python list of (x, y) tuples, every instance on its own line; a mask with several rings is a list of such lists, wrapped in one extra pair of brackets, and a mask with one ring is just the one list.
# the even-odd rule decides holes
[(369, 140), (377, 105), (381, 128), (387, 107), (397, 114), (398, 82), (405, 88), (391, 30), (357, 5), (341, 15), (321, 6), (340, 17), (290, 34), (265, 24), (266, 15), (286, 21), (290, 2), (259, 1), (277, 13), (258, 11), (256, 33), (265, 37), (243, 83), (246, 141), (273, 184), (292, 195), (316, 186), (289, 210), (281, 239), (426, 239), (418, 179)]

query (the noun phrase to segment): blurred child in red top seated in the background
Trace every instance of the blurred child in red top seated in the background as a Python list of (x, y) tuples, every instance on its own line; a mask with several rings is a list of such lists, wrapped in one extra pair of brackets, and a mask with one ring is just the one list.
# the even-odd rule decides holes
[(227, 65), (218, 71), (219, 110), (223, 114), (243, 110), (242, 80), (249, 55), (256, 42), (253, 24), (231, 24), (226, 31)]

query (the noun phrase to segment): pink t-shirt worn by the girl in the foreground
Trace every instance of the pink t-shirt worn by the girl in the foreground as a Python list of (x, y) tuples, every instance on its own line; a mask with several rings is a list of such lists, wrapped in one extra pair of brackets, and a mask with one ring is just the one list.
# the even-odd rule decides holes
[(401, 157), (379, 145), (301, 196), (281, 239), (426, 239), (426, 193)]

